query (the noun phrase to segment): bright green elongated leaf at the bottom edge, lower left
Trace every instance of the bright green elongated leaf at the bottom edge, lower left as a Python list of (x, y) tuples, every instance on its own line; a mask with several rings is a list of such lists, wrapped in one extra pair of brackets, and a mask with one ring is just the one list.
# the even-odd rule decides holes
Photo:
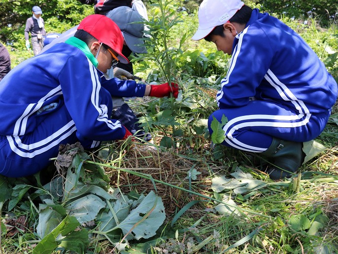
[(70, 232), (74, 231), (75, 228), (79, 226), (79, 222), (75, 217), (67, 216), (64, 218), (61, 223), (55, 227), (48, 235), (46, 235), (34, 248), (33, 254), (50, 254), (56, 247), (58, 243), (56, 238), (59, 234), (62, 236), (67, 236)]

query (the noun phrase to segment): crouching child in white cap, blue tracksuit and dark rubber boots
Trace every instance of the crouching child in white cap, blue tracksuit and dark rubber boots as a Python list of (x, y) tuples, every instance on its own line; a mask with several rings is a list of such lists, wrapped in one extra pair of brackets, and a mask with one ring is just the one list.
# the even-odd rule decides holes
[(260, 153), (271, 179), (290, 177), (304, 160), (303, 142), (324, 130), (337, 83), (301, 36), (240, 0), (203, 0), (193, 39), (232, 55), (217, 93), (227, 145)]

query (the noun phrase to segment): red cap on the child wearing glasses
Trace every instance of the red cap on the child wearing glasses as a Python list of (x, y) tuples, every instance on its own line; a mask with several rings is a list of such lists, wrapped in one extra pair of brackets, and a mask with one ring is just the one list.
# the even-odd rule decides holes
[(121, 30), (110, 18), (100, 14), (89, 15), (80, 22), (77, 30), (86, 31), (106, 44), (118, 54), (117, 58), (121, 63), (129, 63), (127, 57), (121, 53), (124, 41)]

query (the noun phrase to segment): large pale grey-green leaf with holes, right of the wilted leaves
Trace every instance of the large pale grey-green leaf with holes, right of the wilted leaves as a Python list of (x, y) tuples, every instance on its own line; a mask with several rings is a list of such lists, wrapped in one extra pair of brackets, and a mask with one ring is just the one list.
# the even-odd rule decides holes
[[(154, 207), (155, 204), (156, 206)], [(148, 217), (144, 219), (143, 217), (146, 215)], [(128, 239), (148, 239), (156, 234), (156, 230), (162, 225), (165, 218), (166, 214), (162, 199), (151, 191), (142, 202), (131, 211), (128, 217), (121, 221), (117, 228), (122, 229), (125, 235), (129, 233), (129, 231), (132, 231), (132, 233), (128, 235)], [(136, 225), (136, 223), (139, 224)]]

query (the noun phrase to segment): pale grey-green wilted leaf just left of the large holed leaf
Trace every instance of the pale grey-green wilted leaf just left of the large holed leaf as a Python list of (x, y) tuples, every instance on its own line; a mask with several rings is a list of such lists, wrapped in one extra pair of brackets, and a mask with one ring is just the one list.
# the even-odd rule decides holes
[(103, 207), (105, 207), (105, 202), (101, 198), (89, 194), (72, 201), (65, 208), (69, 216), (74, 216), (82, 224), (94, 220)]

